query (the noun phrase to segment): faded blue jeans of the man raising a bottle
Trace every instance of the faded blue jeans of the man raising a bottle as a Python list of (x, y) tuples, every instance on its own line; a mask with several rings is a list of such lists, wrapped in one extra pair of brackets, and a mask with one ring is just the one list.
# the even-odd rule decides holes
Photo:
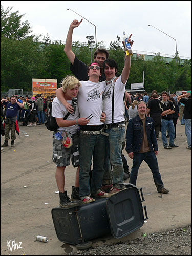
[[(111, 128), (106, 129), (105, 133), (109, 136), (105, 137), (105, 161), (104, 161), (104, 175), (103, 185), (114, 184), (118, 189), (125, 188), (123, 181), (123, 162), (121, 158), (122, 145), (125, 136), (125, 128)], [(113, 182), (111, 175), (111, 164), (113, 165)]]

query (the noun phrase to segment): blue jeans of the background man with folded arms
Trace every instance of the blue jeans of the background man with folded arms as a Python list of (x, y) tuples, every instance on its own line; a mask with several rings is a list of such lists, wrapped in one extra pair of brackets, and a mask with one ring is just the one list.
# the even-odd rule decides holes
[(163, 146), (168, 146), (167, 138), (166, 138), (166, 131), (167, 128), (169, 130), (169, 145), (174, 145), (174, 139), (175, 139), (175, 128), (173, 120), (165, 120), (161, 119), (161, 139), (163, 142)]

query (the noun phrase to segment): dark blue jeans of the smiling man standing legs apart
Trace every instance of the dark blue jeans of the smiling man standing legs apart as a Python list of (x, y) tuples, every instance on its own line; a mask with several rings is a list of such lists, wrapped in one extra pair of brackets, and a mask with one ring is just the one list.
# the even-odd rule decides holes
[(154, 151), (148, 151), (146, 153), (135, 153), (133, 154), (133, 166), (130, 173), (130, 183), (134, 184), (136, 186), (136, 180), (139, 172), (139, 167), (142, 163), (142, 161), (145, 161), (148, 164), (148, 167), (150, 167), (153, 179), (155, 182), (155, 185), (157, 187), (157, 190), (164, 187), (163, 182), (161, 180), (161, 175), (159, 173), (159, 167), (157, 162), (157, 157), (154, 153)]

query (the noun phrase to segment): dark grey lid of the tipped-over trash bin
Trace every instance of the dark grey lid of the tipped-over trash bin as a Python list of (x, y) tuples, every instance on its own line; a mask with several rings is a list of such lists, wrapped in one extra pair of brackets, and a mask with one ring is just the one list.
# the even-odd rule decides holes
[(139, 190), (135, 186), (109, 197), (106, 210), (114, 238), (127, 236), (144, 224)]

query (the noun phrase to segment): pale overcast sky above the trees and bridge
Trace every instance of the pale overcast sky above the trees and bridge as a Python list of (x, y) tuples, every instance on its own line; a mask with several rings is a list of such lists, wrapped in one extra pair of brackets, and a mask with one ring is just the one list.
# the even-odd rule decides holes
[[(175, 55), (177, 42), (179, 56), (191, 57), (191, 1), (1, 1), (1, 5), (25, 14), (22, 21), (29, 21), (33, 34), (48, 33), (51, 40), (65, 42), (70, 23), (81, 15), (96, 26), (97, 42), (106, 47), (117, 35), (122, 39), (125, 30), (132, 34), (133, 50)], [(95, 39), (95, 27), (86, 19), (74, 29), (73, 41), (86, 42), (87, 35)]]

